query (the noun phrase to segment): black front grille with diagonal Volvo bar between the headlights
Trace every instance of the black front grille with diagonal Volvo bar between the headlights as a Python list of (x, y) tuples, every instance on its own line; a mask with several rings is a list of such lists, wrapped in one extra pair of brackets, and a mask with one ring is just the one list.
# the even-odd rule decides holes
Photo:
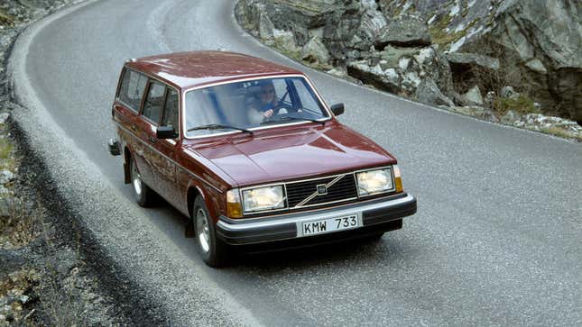
[[(287, 203), (289, 208), (295, 207), (297, 204), (303, 202), (309, 195), (313, 195), (318, 191), (317, 186), (324, 184), (328, 185), (329, 182), (336, 179), (334, 177), (322, 177), (318, 179), (307, 180), (303, 182), (295, 182), (286, 184), (287, 189)], [(310, 199), (307, 203), (301, 204), (301, 206), (309, 206), (314, 204), (327, 204), (330, 202), (339, 202), (342, 200), (352, 200), (357, 197), (356, 190), (356, 180), (354, 179), (354, 174), (346, 174), (341, 177), (337, 182), (328, 187), (328, 194), (317, 195)]]

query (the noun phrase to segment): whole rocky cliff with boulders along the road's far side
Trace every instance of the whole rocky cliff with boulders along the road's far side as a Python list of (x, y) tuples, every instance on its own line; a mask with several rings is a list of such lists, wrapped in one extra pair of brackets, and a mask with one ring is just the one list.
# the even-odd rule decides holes
[(479, 106), (492, 120), (582, 122), (579, 0), (241, 0), (236, 14), (265, 43), (337, 76)]

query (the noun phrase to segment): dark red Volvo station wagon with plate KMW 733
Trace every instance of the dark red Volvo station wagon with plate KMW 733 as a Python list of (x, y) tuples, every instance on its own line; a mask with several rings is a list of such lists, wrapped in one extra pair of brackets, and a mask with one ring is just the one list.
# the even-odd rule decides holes
[(213, 267), (232, 250), (377, 238), (416, 213), (396, 159), (339, 123), (298, 70), (239, 53), (130, 59), (112, 114), (125, 183), (189, 217)]

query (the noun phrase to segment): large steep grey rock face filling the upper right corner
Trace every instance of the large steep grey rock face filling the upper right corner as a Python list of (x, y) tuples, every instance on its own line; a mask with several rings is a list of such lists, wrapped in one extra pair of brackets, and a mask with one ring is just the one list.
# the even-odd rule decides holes
[(507, 0), (497, 9), (489, 39), (516, 64), (544, 107), (582, 120), (582, 3)]

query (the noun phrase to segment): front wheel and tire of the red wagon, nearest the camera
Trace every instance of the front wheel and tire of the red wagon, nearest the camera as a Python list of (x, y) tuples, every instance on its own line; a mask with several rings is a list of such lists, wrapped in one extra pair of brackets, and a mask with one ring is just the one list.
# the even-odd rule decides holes
[(224, 267), (228, 261), (228, 247), (217, 238), (217, 229), (208, 213), (204, 199), (198, 196), (192, 206), (194, 224), (194, 239), (198, 246), (200, 257), (214, 268)]

